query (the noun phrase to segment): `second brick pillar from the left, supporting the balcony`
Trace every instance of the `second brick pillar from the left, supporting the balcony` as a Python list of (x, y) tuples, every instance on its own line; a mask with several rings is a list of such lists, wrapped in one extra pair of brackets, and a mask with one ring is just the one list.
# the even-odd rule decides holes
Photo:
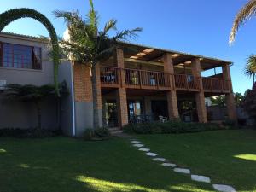
[(171, 89), (167, 90), (166, 99), (168, 103), (168, 114), (169, 119), (177, 119), (178, 118), (178, 109), (177, 109), (177, 93), (174, 89), (174, 69), (172, 64), (172, 55), (166, 53), (164, 55), (164, 72), (170, 74), (169, 81), (171, 85)]

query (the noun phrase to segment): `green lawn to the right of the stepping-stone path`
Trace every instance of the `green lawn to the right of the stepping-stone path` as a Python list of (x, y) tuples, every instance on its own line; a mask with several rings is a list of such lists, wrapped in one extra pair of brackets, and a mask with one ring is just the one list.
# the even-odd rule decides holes
[(147, 147), (213, 183), (256, 191), (256, 131), (207, 131), (137, 136)]

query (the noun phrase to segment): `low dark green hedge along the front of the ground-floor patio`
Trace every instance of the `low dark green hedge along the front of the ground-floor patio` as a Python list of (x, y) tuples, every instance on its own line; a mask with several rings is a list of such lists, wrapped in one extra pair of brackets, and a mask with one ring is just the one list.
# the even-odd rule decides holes
[(184, 123), (180, 121), (168, 121), (166, 123), (141, 123), (124, 126), (127, 133), (137, 134), (173, 134), (199, 131), (212, 131), (223, 129), (217, 124)]

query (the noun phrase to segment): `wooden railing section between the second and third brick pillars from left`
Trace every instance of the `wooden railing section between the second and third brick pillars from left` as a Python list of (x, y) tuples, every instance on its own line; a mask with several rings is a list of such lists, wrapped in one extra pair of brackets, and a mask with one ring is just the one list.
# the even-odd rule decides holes
[(199, 90), (200, 78), (187, 74), (174, 74), (175, 87), (187, 90)]

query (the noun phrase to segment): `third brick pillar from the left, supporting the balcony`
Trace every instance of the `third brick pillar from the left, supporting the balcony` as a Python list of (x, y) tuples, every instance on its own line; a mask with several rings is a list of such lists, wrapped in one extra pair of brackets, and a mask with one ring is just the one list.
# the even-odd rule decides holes
[(195, 93), (195, 102), (198, 120), (200, 123), (207, 123), (207, 108), (205, 103), (205, 93), (203, 89), (202, 79), (201, 79), (201, 64), (200, 59), (195, 58), (191, 63), (192, 74), (195, 78), (199, 78), (200, 90)]

